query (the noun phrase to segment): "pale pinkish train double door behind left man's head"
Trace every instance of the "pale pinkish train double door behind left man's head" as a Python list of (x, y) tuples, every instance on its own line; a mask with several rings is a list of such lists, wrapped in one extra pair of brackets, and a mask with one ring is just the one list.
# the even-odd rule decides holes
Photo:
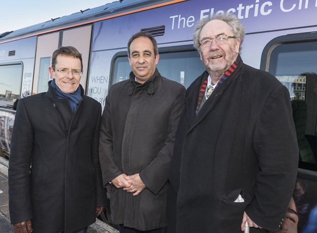
[(48, 81), (52, 79), (49, 73), (49, 66), (52, 60), (51, 56), (60, 46), (73, 46), (82, 54), (83, 75), (81, 85), (84, 90), (86, 90), (91, 31), (92, 25), (89, 25), (38, 36), (34, 66), (33, 94), (47, 91)]

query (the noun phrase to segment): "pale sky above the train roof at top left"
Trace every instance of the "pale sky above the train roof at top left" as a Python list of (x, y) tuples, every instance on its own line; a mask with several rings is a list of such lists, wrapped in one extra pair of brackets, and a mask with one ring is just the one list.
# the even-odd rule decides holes
[(0, 34), (117, 0), (0, 0)]

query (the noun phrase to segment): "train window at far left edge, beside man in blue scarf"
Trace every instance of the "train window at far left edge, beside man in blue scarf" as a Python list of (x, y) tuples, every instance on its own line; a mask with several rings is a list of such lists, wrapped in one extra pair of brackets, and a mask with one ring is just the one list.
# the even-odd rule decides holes
[(0, 107), (13, 108), (20, 97), (22, 64), (0, 65)]

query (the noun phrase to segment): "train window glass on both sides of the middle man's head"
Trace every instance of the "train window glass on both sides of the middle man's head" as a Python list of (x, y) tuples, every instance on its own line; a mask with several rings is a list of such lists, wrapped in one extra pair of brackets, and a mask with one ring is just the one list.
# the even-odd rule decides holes
[[(205, 70), (197, 51), (160, 52), (160, 60), (156, 67), (163, 76), (181, 83), (185, 88)], [(129, 79), (130, 72), (128, 57), (117, 57), (114, 63), (113, 83)]]

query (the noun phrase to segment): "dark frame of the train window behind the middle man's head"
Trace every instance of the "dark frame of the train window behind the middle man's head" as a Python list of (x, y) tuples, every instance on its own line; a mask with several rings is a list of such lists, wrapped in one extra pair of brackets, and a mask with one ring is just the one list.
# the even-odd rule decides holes
[[(182, 52), (195, 52), (197, 54), (197, 59), (199, 59), (201, 61), (199, 52), (193, 48), (193, 45), (181, 45), (181, 46), (170, 46), (170, 47), (159, 48), (160, 55), (168, 54), (168, 53), (182, 53)], [(115, 53), (111, 59), (110, 80), (109, 80), (108, 88), (110, 88), (113, 85), (113, 76), (114, 76), (114, 72), (115, 72), (115, 62), (118, 58), (123, 58), (123, 57), (126, 57), (128, 59), (128, 51), (127, 50)], [(160, 63), (160, 60), (159, 60), (159, 63)], [(202, 64), (202, 67), (204, 67), (202, 62), (201, 62), (201, 64)], [(204, 71), (205, 71), (205, 67), (201, 70), (200, 74), (202, 74)], [(195, 76), (195, 77), (193, 77), (193, 79), (196, 79), (197, 77), (198, 76)], [(169, 77), (167, 77), (167, 78), (169, 78)]]

